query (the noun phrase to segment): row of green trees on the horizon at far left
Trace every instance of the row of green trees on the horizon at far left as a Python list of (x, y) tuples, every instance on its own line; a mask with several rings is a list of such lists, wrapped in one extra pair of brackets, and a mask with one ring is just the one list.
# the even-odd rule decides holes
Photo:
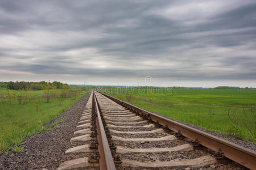
[(9, 90), (43, 90), (45, 87), (50, 86), (55, 89), (69, 88), (68, 84), (61, 82), (0, 82), (0, 87), (5, 87)]

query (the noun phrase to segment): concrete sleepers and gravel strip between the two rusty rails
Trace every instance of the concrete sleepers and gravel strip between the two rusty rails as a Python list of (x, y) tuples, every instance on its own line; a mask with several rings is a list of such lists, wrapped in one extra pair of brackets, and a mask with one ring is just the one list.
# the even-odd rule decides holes
[[(175, 133), (161, 126), (158, 122), (148, 120), (146, 116), (141, 116), (137, 112), (130, 111), (113, 100), (110, 100), (108, 97), (97, 92), (96, 96), (101, 112), (112, 134), (112, 139), (117, 147), (116, 153), (122, 159), (122, 164), (119, 165), (118, 169), (189, 169), (213, 167), (218, 164), (230, 163), (230, 160), (221, 155), (221, 151), (210, 151), (201, 146), (199, 142), (185, 138), (179, 132)], [(130, 130), (126, 131), (129, 128)], [(159, 137), (151, 137), (152, 134), (159, 134)], [(142, 137), (139, 137), (140, 135)], [(171, 143), (172, 141), (176, 141), (176, 143), (177, 141), (183, 141), (181, 142), (183, 144), (174, 147), (157, 147), (158, 143)], [(131, 148), (129, 147), (129, 143), (135, 143), (137, 147)], [(155, 143), (154, 145), (156, 147), (141, 148), (142, 145), (148, 145), (150, 143)], [(203, 154), (202, 156), (197, 155), (196, 158), (183, 158), (183, 154), (190, 154), (191, 152)], [(170, 159), (158, 159), (162, 155), (168, 155)], [(174, 158), (175, 156), (172, 155), (180, 155), (180, 158)], [(143, 157), (152, 159), (143, 159)], [(225, 165), (223, 166), (225, 167)]]

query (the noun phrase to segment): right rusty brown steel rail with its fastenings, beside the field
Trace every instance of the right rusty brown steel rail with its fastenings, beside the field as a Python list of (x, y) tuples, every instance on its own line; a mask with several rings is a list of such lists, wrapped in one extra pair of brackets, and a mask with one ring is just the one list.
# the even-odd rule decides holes
[(210, 150), (218, 152), (221, 148), (223, 155), (233, 160), (234, 162), (243, 165), (246, 168), (255, 169), (256, 168), (256, 152), (249, 150), (235, 143), (225, 141), (224, 139), (218, 138), (214, 135), (205, 133), (204, 131), (191, 128), (190, 126), (181, 124), (179, 122), (170, 120), (159, 114), (146, 111), (145, 109), (139, 108), (136, 105), (127, 103), (126, 101), (117, 99), (113, 96), (106, 95), (102, 92), (100, 94), (112, 99), (116, 103), (129, 108), (131, 111), (137, 112), (142, 116), (151, 118), (154, 122), (159, 122), (160, 125), (168, 126), (169, 129), (181, 133), (184, 137), (187, 137), (192, 140), (198, 140), (200, 145), (209, 148)]

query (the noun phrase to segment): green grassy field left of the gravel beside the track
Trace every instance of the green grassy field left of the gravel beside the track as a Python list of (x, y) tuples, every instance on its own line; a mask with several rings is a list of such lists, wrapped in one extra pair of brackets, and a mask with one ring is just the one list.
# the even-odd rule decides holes
[[(17, 152), (21, 151), (19, 145), (24, 138), (39, 131), (47, 131), (48, 129), (43, 127), (45, 124), (69, 109), (86, 94), (78, 90), (51, 90), (51, 97), (47, 103), (43, 90), (10, 93), (11, 104), (6, 97), (7, 91), (0, 88), (0, 154), (7, 154), (10, 148)], [(23, 100), (19, 104), (18, 96), (22, 93), (27, 95), (27, 101)]]

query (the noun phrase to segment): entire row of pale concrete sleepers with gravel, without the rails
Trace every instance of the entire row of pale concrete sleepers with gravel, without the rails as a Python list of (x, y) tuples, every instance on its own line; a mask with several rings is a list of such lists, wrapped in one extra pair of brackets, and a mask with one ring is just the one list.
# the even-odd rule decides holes
[[(226, 167), (232, 163), (222, 155), (213, 152), (195, 140), (183, 137), (178, 131), (148, 120), (138, 112), (115, 103), (108, 97), (94, 92), (104, 125), (109, 148), (117, 169), (199, 169)], [(85, 154), (82, 158), (68, 160), (59, 169), (99, 169), (96, 105), (93, 93), (77, 125), (71, 142), (85, 142), (69, 148), (65, 154)], [(234, 163), (232, 163), (234, 164)], [(231, 167), (234, 165), (231, 165)], [(235, 166), (243, 169), (241, 165)]]

